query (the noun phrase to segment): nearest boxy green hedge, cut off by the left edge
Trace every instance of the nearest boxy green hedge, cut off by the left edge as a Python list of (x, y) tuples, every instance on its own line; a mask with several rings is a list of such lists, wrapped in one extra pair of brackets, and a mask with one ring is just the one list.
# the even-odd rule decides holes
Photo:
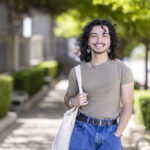
[(13, 78), (10, 76), (0, 76), (0, 118), (9, 111), (12, 90)]

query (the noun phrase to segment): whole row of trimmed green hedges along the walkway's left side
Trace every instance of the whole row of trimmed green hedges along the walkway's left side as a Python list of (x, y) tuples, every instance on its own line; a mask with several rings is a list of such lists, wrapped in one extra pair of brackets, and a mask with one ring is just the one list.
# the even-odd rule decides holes
[(32, 96), (42, 87), (44, 76), (56, 78), (57, 75), (57, 61), (44, 61), (40, 65), (16, 72), (12, 76), (0, 76), (0, 118), (10, 109), (13, 89), (24, 90)]

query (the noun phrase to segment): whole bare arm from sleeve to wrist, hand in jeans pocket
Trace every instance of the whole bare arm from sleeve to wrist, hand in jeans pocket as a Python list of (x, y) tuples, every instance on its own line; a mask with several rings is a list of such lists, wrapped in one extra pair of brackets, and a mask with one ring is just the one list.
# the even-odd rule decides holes
[(132, 114), (132, 100), (134, 93), (134, 82), (123, 84), (121, 86), (123, 109), (120, 114), (120, 122), (116, 133), (122, 134)]

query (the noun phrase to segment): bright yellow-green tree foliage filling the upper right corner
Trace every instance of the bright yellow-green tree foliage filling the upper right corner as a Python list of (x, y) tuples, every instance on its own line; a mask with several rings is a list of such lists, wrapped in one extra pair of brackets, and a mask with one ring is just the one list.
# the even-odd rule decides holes
[[(127, 34), (136, 39), (150, 39), (150, 1), (144, 0), (93, 0), (94, 5), (111, 5), (111, 9), (116, 11), (121, 10), (121, 16), (117, 17), (118, 22), (125, 24)], [(114, 18), (113, 18), (114, 19)], [(143, 30), (144, 29), (144, 30)], [(131, 33), (131, 34), (130, 34)], [(143, 41), (142, 41), (143, 42)]]

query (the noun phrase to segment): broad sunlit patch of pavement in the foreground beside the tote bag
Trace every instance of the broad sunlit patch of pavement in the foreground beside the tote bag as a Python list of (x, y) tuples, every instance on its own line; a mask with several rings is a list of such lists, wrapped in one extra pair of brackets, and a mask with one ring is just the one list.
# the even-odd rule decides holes
[(48, 150), (61, 119), (18, 119), (22, 125), (14, 129), (0, 145), (0, 149)]

